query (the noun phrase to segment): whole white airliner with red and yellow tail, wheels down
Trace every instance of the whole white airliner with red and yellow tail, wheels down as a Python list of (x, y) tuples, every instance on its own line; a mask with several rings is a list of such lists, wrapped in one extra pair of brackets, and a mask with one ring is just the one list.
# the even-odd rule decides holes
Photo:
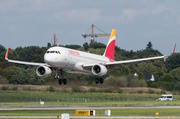
[[(33, 63), (17, 60), (9, 60), (7, 49), (5, 59), (8, 62), (38, 66), (36, 73), (38, 76), (46, 78), (51, 75), (52, 70), (56, 70), (55, 79), (59, 79), (59, 84), (67, 84), (67, 80), (63, 78), (63, 71), (68, 73), (78, 73), (78, 74), (88, 74), (103, 76), (108, 71), (114, 69), (115, 67), (126, 67), (127, 65), (145, 63), (154, 59), (161, 59), (168, 57), (170, 55), (125, 60), (125, 61), (115, 61), (114, 60), (114, 50), (115, 50), (115, 40), (116, 40), (116, 30), (113, 29), (107, 43), (104, 55), (96, 55), (87, 52), (82, 52), (78, 50), (73, 50), (64, 47), (52, 47), (47, 50), (44, 55), (45, 63)], [(174, 48), (175, 49), (175, 48)], [(174, 53), (174, 51), (173, 51)], [(58, 71), (60, 71), (61, 78), (58, 76)], [(103, 78), (96, 78), (95, 83), (103, 83)]]

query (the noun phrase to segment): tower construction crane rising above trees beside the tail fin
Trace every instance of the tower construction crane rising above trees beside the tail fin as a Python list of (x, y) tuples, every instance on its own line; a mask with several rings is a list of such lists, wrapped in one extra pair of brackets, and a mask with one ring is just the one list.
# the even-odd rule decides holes
[[(104, 34), (94, 34), (94, 27), (97, 28), (98, 30), (100, 30), (101, 32), (103, 32)], [(82, 36), (84, 38), (91, 37), (91, 42), (94, 42), (94, 37), (110, 36), (110, 34), (105, 33), (104, 31), (102, 31), (101, 29), (99, 29), (98, 27), (96, 27), (95, 25), (92, 24), (91, 34), (82, 34)]]

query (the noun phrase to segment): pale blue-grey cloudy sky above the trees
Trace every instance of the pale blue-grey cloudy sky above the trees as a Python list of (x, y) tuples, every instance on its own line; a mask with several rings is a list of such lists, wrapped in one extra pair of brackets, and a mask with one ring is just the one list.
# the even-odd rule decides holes
[[(0, 44), (15, 49), (47, 46), (54, 32), (58, 44), (83, 45), (92, 24), (110, 33), (128, 51), (153, 48), (170, 54), (180, 50), (180, 0), (0, 0)], [(95, 33), (101, 33), (95, 29)], [(108, 37), (95, 41), (107, 44)]]

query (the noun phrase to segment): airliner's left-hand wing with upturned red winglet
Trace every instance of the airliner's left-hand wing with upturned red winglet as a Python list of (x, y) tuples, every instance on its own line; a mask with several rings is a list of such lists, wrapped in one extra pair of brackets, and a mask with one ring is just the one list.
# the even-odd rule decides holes
[(8, 59), (8, 54), (9, 54), (9, 48), (6, 51), (5, 59), (8, 62), (11, 62), (11, 63), (25, 64), (25, 65), (31, 65), (31, 66), (44, 66), (44, 65), (48, 66), (48, 64), (46, 64), (46, 63), (34, 63), (34, 62), (24, 62), (24, 61), (17, 61), (17, 60), (9, 60)]

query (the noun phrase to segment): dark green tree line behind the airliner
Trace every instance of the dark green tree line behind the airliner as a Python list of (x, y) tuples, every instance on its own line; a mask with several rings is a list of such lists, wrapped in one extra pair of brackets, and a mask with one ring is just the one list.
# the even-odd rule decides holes
[[(62, 45), (61, 45), (62, 46)], [(146, 58), (153, 56), (161, 56), (162, 53), (153, 49), (152, 43), (148, 42), (145, 49), (137, 51), (127, 51), (115, 46), (115, 60), (130, 60), (138, 58)], [(47, 47), (28, 46), (17, 47), (16, 49), (9, 50), (9, 59), (28, 61), (28, 62), (44, 62), (44, 54), (48, 48), (52, 47), (49, 43)], [(63, 47), (81, 50), (85, 52), (103, 55), (106, 45), (100, 42), (87, 43), (83, 46), (80, 45), (64, 45)], [(0, 83), (10, 84), (32, 84), (42, 85), (48, 81), (53, 81), (55, 72), (48, 78), (41, 78), (36, 75), (36, 67), (30, 67), (20, 64), (7, 63), (4, 59), (6, 48), (0, 45)], [(107, 81), (107, 85), (115, 84), (117, 86), (150, 86), (150, 87), (163, 87), (169, 90), (180, 89), (180, 53), (175, 53), (160, 60), (153, 60), (146, 64), (135, 64), (128, 67), (118, 67), (108, 72), (103, 78)], [(138, 77), (134, 77), (135, 72), (140, 72)], [(143, 72), (151, 73), (155, 77), (154, 82), (146, 82)], [(65, 77), (70, 81), (86, 82), (92, 84), (95, 76), (81, 75), (81, 74), (68, 74)], [(114, 83), (112, 83), (114, 82)], [(168, 87), (168, 88), (167, 88)]]

